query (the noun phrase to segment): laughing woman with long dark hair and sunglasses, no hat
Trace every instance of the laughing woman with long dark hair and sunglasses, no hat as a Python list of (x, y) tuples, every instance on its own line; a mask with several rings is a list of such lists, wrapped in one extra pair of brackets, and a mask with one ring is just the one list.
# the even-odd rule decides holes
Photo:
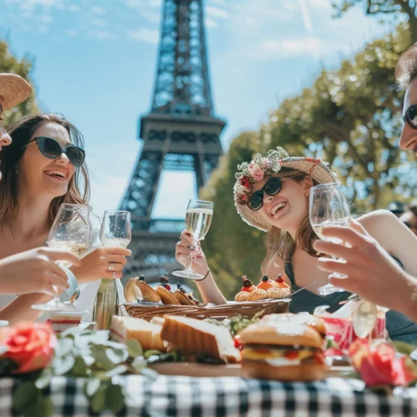
[[(11, 145), (0, 154), (0, 259), (45, 245), (60, 204), (89, 206), (90, 181), (85, 166), (83, 136), (56, 113), (24, 117), (8, 128)], [(120, 278), (131, 251), (96, 247), (71, 268), (83, 288), (76, 306), (92, 310), (101, 278)], [(94, 282), (92, 282), (94, 281)], [(29, 294), (15, 300), (0, 299), (1, 318), (35, 319), (48, 296)], [(5, 305), (7, 301), (11, 301)]]

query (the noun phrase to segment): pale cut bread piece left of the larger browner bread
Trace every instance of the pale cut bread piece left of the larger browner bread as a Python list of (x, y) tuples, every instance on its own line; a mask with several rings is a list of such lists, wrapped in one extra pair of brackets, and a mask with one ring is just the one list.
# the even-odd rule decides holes
[(133, 338), (142, 345), (143, 350), (155, 349), (166, 352), (165, 343), (161, 339), (162, 325), (148, 322), (142, 318), (113, 316), (111, 320), (111, 337), (120, 343)]

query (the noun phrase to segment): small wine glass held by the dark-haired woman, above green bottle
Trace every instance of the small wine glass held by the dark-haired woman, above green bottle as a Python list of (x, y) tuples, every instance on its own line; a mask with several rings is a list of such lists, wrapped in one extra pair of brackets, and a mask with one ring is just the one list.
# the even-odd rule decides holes
[[(129, 211), (106, 210), (100, 230), (100, 240), (104, 247), (126, 249), (131, 242), (131, 215)], [(113, 271), (115, 279), (116, 272)]]

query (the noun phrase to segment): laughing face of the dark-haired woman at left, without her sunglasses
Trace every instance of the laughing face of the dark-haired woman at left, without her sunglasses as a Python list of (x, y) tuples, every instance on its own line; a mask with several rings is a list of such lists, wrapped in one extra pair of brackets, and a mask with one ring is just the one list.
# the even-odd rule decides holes
[[(42, 122), (33, 133), (31, 140), (46, 136), (57, 140), (62, 147), (70, 145), (70, 135), (64, 126), (54, 122)], [(52, 198), (65, 195), (75, 167), (70, 164), (66, 154), (56, 159), (42, 155), (36, 141), (30, 142), (19, 161), (19, 188), (31, 193), (51, 195)]]

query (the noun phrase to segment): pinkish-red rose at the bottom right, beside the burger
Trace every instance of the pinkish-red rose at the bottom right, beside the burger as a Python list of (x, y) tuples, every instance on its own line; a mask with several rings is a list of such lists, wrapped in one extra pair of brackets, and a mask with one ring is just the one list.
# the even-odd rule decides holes
[(417, 379), (407, 357), (397, 357), (388, 343), (369, 345), (368, 341), (357, 339), (350, 346), (349, 354), (354, 368), (368, 386), (406, 386)]

